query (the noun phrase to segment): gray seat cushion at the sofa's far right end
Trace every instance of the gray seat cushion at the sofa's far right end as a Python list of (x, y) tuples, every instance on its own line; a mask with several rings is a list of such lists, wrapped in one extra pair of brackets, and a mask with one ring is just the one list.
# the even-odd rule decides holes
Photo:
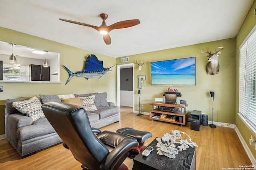
[(120, 107), (118, 107), (118, 106), (102, 106), (102, 107), (98, 107), (98, 110), (91, 111), (91, 112), (97, 113), (98, 115), (100, 115), (100, 119), (103, 119), (105, 117), (109, 117), (111, 115), (120, 113)]

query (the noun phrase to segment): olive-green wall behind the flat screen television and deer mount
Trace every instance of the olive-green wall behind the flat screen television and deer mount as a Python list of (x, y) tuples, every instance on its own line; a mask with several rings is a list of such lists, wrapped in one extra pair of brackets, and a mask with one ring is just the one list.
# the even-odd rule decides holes
[[(216, 75), (206, 74), (206, 64), (208, 57), (201, 50), (204, 47), (209, 51), (218, 50), (220, 44), (224, 45), (219, 56), (220, 71)], [(149, 112), (151, 109), (150, 103), (154, 102), (155, 98), (163, 98), (164, 92), (168, 87), (178, 89), (182, 97), (177, 97), (179, 100), (186, 100), (188, 111), (200, 110), (208, 115), (208, 120), (212, 120), (212, 98), (210, 91), (215, 92), (214, 98), (214, 121), (222, 123), (236, 123), (235, 120), (235, 90), (236, 90), (236, 39), (224, 39), (209, 43), (190, 45), (186, 47), (178, 47), (166, 49), (162, 51), (154, 51), (139, 55), (128, 56), (130, 63), (136, 60), (139, 62), (145, 60), (142, 70), (138, 70), (138, 65), (135, 65), (135, 110), (139, 110), (139, 95), (138, 92), (138, 75), (146, 75), (146, 80), (142, 84), (140, 104), (144, 105), (142, 111)], [(187, 57), (196, 57), (196, 86), (152, 86), (150, 79), (150, 62), (163, 61), (169, 59), (180, 59)], [(120, 58), (116, 59), (120, 62)], [(126, 64), (126, 63), (125, 63)]]

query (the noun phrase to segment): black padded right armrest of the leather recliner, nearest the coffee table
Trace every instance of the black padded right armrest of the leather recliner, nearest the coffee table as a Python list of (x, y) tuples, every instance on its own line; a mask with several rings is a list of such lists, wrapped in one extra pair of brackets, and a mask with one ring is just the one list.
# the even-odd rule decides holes
[(100, 167), (102, 169), (114, 169), (116, 165), (120, 166), (128, 156), (129, 151), (135, 150), (138, 153), (140, 152), (138, 145), (139, 143), (134, 139), (123, 140), (106, 156)]

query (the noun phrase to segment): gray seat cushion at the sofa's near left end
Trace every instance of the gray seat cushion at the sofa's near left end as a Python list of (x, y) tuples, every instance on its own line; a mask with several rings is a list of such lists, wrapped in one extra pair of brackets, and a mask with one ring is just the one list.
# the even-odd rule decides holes
[(20, 139), (21, 141), (24, 141), (26, 139), (30, 139), (33, 137), (38, 137), (41, 135), (46, 135), (54, 132), (55, 132), (54, 128), (46, 119), (46, 117), (44, 117), (34, 121), (30, 126), (24, 126), (24, 127), (18, 128), (16, 135), (18, 139)]

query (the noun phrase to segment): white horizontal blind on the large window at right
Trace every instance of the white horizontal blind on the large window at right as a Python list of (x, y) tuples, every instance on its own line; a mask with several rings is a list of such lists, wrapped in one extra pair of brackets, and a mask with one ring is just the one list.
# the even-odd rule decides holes
[(239, 113), (256, 130), (256, 31), (240, 48)]

